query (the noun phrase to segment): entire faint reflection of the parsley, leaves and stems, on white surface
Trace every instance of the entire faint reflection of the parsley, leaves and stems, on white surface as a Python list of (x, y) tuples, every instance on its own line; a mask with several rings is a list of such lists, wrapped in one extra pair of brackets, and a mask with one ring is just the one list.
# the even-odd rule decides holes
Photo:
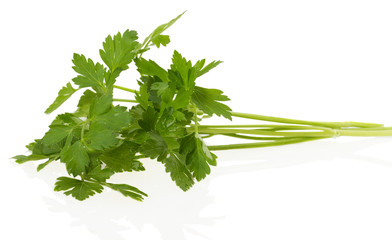
[[(160, 164), (145, 161), (147, 171), (142, 173), (143, 177), (133, 176), (131, 173), (115, 179), (118, 182), (131, 183), (141, 177), (139, 181), (143, 181), (144, 186), (140, 186), (140, 183), (135, 186), (140, 186), (149, 193), (149, 197), (142, 203), (109, 190), (84, 202), (57, 193), (53, 194), (57, 197), (43, 197), (43, 200), (50, 211), (71, 216), (74, 219), (70, 223), (72, 226), (84, 226), (98, 239), (137, 238), (129, 236), (135, 232), (142, 235), (148, 232), (151, 236), (165, 240), (186, 239), (188, 234), (200, 239), (211, 239), (200, 229), (214, 228), (225, 220), (226, 214), (226, 211), (219, 212), (214, 194), (209, 192), (209, 186), (214, 179), (230, 174), (285, 168), (336, 158), (392, 167), (390, 161), (362, 154), (368, 148), (390, 142), (391, 138), (355, 139), (349, 142), (327, 140), (266, 149), (218, 152), (218, 167), (212, 169), (211, 176), (186, 193), (177, 189)], [(22, 166), (26, 174), (43, 179), (51, 188), (53, 179), (64, 174), (62, 165), (54, 164), (39, 174), (31, 164)], [(231, 190), (228, 187), (222, 191)], [(204, 216), (206, 209), (209, 210), (209, 216)]]

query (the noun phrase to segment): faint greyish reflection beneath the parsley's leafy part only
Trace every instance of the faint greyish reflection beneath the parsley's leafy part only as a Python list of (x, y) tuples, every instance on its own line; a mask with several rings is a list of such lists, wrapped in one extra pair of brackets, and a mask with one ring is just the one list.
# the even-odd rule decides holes
[[(105, 190), (82, 202), (62, 193), (53, 193), (55, 197), (43, 197), (43, 200), (50, 211), (66, 213), (74, 219), (72, 226), (84, 226), (102, 240), (131, 239), (135, 238), (130, 235), (135, 230), (142, 233), (151, 228), (156, 232), (154, 236), (158, 235), (159, 239), (186, 239), (187, 235), (209, 239), (198, 229), (200, 226), (213, 227), (224, 216), (203, 215), (203, 210), (214, 204), (214, 197), (208, 191), (208, 180), (184, 193), (170, 180), (161, 164), (146, 161), (147, 171), (141, 173), (144, 176), (140, 176), (146, 184), (132, 184), (149, 194), (143, 202), (125, 198), (111, 190)], [(57, 163), (38, 174), (33, 164), (25, 164), (23, 167), (29, 177), (44, 180), (50, 188), (53, 188), (57, 177), (65, 174), (61, 171), (64, 167)], [(132, 175), (133, 173), (123, 174), (113, 182), (134, 183), (137, 176)], [(140, 238), (136, 236), (136, 239)]]

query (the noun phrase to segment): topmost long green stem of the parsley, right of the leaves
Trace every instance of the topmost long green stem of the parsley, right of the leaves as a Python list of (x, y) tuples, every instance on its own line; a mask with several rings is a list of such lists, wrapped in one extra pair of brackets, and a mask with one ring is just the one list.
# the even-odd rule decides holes
[(305, 121), (305, 120), (297, 120), (291, 118), (280, 118), (280, 117), (271, 117), (257, 114), (249, 114), (249, 113), (238, 113), (231, 112), (232, 116), (247, 118), (253, 120), (261, 120), (268, 122), (278, 122), (278, 123), (290, 123), (290, 124), (301, 124), (301, 125), (311, 125), (311, 126), (320, 126), (320, 127), (330, 127), (330, 128), (341, 128), (341, 127), (382, 127), (382, 124), (376, 123), (360, 123), (360, 122), (317, 122), (317, 121)]

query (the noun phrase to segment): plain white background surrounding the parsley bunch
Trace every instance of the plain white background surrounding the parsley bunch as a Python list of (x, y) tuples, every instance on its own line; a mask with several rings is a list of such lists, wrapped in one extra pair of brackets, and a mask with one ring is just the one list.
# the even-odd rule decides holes
[[(37, 173), (9, 159), (75, 108), (80, 95), (43, 113), (75, 76), (74, 52), (97, 61), (108, 34), (143, 39), (184, 10), (172, 43), (145, 57), (223, 60), (199, 84), (234, 111), (392, 124), (391, 1), (1, 1), (0, 239), (391, 239), (390, 137), (217, 152), (186, 193), (144, 160), (112, 178), (149, 193), (143, 203), (109, 190), (79, 202), (53, 191), (61, 164)], [(132, 71), (120, 85), (136, 86)]]

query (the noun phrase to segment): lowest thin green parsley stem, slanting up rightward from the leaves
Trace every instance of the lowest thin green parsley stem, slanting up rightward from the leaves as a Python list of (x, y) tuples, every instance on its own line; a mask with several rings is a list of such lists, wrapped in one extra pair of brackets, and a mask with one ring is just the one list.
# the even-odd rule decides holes
[(272, 142), (212, 145), (212, 146), (208, 146), (208, 149), (211, 151), (218, 151), (218, 150), (231, 150), (231, 149), (261, 148), (261, 147), (272, 147), (272, 146), (281, 146), (281, 145), (288, 145), (294, 143), (308, 142), (308, 141), (314, 141), (319, 139), (323, 139), (323, 138), (296, 138), (296, 139), (287, 139), (287, 140), (277, 140)]

